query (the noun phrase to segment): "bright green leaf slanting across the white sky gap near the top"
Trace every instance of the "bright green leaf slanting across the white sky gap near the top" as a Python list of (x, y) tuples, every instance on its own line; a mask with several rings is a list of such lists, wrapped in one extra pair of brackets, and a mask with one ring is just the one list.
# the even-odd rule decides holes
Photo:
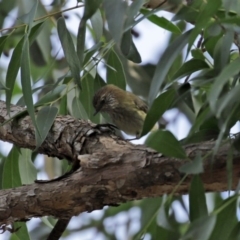
[[(147, 15), (149, 14), (151, 11), (147, 10), (147, 9), (141, 9), (140, 13), (142, 13), (143, 15)], [(166, 29), (172, 33), (176, 33), (176, 34), (181, 34), (181, 30), (179, 29), (178, 26), (176, 26), (175, 24), (173, 24), (172, 22), (170, 22), (169, 20), (167, 20), (165, 17), (158, 17), (157, 15), (151, 15), (149, 17), (147, 17), (147, 19), (156, 24), (157, 26)]]

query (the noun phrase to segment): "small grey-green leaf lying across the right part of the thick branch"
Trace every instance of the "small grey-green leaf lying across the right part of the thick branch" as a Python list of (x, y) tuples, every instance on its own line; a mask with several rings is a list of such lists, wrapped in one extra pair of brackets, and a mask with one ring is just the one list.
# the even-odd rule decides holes
[(203, 169), (203, 163), (202, 163), (201, 155), (197, 154), (197, 156), (194, 158), (193, 161), (182, 165), (179, 168), (179, 171), (182, 172), (182, 173), (187, 173), (187, 174), (203, 173), (204, 169)]

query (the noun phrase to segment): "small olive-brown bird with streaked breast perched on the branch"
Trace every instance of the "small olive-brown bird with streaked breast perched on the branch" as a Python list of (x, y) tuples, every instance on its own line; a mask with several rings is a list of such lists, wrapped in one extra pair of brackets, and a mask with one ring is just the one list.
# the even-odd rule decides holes
[[(96, 115), (99, 112), (108, 113), (120, 130), (129, 135), (141, 136), (143, 123), (148, 106), (133, 93), (109, 84), (100, 88), (93, 97), (93, 107)], [(157, 125), (154, 127), (157, 129)]]

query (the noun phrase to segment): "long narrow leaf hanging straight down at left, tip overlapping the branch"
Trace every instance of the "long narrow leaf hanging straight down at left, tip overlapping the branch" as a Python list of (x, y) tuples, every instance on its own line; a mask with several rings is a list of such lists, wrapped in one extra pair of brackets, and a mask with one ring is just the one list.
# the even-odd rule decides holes
[(22, 91), (27, 111), (31, 117), (32, 123), (35, 127), (36, 143), (41, 142), (41, 135), (38, 130), (37, 122), (35, 119), (35, 110), (32, 99), (32, 88), (31, 88), (31, 74), (30, 74), (30, 59), (29, 59), (29, 40), (25, 34), (22, 57), (21, 57), (21, 83)]

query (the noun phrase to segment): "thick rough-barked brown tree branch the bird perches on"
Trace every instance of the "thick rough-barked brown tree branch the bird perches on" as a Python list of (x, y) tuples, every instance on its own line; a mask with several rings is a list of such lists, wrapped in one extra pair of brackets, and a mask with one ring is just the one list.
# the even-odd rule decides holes
[[(7, 114), (4, 103), (1, 104), (2, 122)], [(21, 110), (16, 106), (12, 109)], [(94, 126), (70, 116), (56, 119), (40, 152), (69, 159), (78, 156), (81, 168), (61, 181), (1, 190), (0, 225), (46, 215), (68, 219), (105, 205), (116, 206), (134, 199), (161, 196), (175, 189), (182, 178), (178, 169), (187, 160), (164, 157), (145, 146), (119, 139), (111, 132), (98, 132)], [(1, 127), (0, 138), (20, 147), (35, 147), (34, 131), (28, 116)], [(214, 144), (209, 141), (188, 145), (185, 149), (193, 159), (199, 152), (202, 155), (210, 153)], [(225, 166), (230, 149), (226, 143), (219, 149), (213, 163), (210, 155), (205, 159), (202, 179), (206, 191), (228, 190)], [(236, 151), (232, 154), (234, 189), (239, 178), (240, 154)], [(175, 193), (187, 193), (189, 182), (190, 177)]]

